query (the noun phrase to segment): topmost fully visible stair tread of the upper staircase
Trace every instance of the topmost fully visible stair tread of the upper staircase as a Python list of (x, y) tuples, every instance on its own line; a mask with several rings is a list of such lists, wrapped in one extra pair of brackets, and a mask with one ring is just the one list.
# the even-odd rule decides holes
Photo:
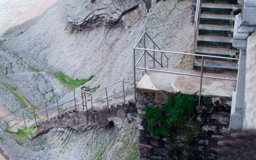
[(241, 9), (241, 5), (237, 4), (223, 4), (223, 3), (203, 3), (202, 8), (216, 8), (216, 9), (232, 9), (238, 10)]

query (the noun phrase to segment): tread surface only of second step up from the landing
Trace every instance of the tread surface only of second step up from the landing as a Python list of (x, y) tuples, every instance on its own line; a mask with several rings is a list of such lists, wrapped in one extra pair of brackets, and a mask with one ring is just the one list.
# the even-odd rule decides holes
[(239, 50), (227, 48), (197, 47), (196, 53), (219, 54), (219, 55), (235, 55)]

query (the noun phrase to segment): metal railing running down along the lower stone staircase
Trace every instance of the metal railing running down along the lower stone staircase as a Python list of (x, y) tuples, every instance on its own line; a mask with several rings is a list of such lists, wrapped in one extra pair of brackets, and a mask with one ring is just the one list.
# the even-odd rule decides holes
[[(139, 75), (139, 74), (142, 74), (142, 76), (143, 76), (143, 74), (144, 74), (144, 71), (141, 71), (141, 72), (139, 72), (139, 73), (137, 73), (136, 75)], [(26, 119), (28, 119), (28, 118), (34, 118), (34, 120), (35, 120), (35, 123), (36, 123), (36, 126), (37, 126), (37, 124), (38, 124), (38, 120), (37, 120), (37, 116), (42, 116), (41, 114), (42, 113), (46, 113), (46, 117), (44, 117), (44, 118), (47, 118), (47, 122), (49, 122), (49, 118), (50, 118), (50, 116), (49, 116), (49, 111), (51, 111), (51, 110), (53, 110), (53, 109), (55, 109), (55, 108), (57, 108), (57, 115), (60, 117), (60, 112), (62, 111), (61, 109), (60, 109), (60, 107), (62, 107), (62, 106), (64, 106), (66, 103), (70, 103), (68, 106), (69, 106), (69, 108), (71, 108), (71, 107), (75, 107), (75, 110), (77, 111), (77, 105), (78, 105), (78, 100), (80, 100), (80, 102), (82, 103), (82, 111), (85, 111), (86, 110), (86, 112), (88, 112), (88, 106), (90, 106), (91, 107), (91, 112), (92, 112), (92, 118), (93, 118), (93, 121), (94, 121), (94, 108), (93, 108), (93, 106), (94, 106), (94, 104), (95, 103), (97, 103), (97, 102), (99, 102), (99, 101), (102, 101), (102, 100), (106, 100), (106, 102), (107, 102), (107, 108), (108, 108), (108, 114), (110, 114), (110, 108), (109, 108), (109, 100), (110, 100), (110, 98), (112, 98), (113, 96), (116, 96), (116, 95), (118, 95), (118, 94), (123, 94), (123, 100), (124, 100), (124, 104), (126, 104), (126, 92), (127, 91), (129, 91), (129, 90), (132, 90), (134, 87), (127, 87), (127, 88), (125, 88), (125, 86), (124, 86), (124, 81), (126, 81), (126, 80), (128, 80), (129, 78), (132, 78), (133, 77), (133, 75), (131, 75), (131, 76), (128, 76), (127, 78), (125, 78), (125, 79), (122, 79), (121, 81), (118, 81), (118, 82), (116, 82), (116, 83), (114, 83), (114, 84), (112, 84), (112, 85), (110, 85), (110, 86), (107, 86), (107, 87), (105, 87), (105, 88), (103, 88), (103, 89), (100, 89), (100, 90), (97, 90), (97, 91), (95, 91), (95, 92), (89, 92), (89, 91), (84, 91), (84, 90), (81, 90), (81, 89), (79, 89), (79, 88), (76, 88), (76, 89), (74, 89), (74, 90), (71, 90), (71, 91), (69, 91), (69, 92), (66, 92), (65, 94), (63, 94), (63, 95), (60, 95), (60, 96), (57, 96), (57, 97), (54, 97), (54, 98), (52, 98), (52, 99), (50, 99), (50, 100), (48, 100), (48, 101), (45, 101), (45, 102), (43, 102), (43, 103), (40, 103), (39, 105), (37, 105), (37, 106), (34, 106), (34, 107), (31, 107), (31, 108), (28, 108), (28, 109), (26, 109), (26, 110), (24, 110), (23, 112), (22, 112), (22, 115), (23, 115), (23, 121), (24, 121), (24, 124), (25, 124), (25, 128), (27, 128), (27, 125), (26, 125)], [(110, 89), (110, 87), (113, 87), (114, 85), (116, 85), (116, 84), (118, 84), (118, 83), (120, 83), (120, 85), (119, 86), (121, 86), (122, 85), (122, 90), (121, 91), (119, 91), (119, 92), (117, 92), (117, 93), (113, 93), (113, 94), (111, 94), (111, 95), (108, 95), (108, 89)], [(100, 92), (100, 91), (104, 91), (104, 95), (98, 95), (97, 97), (104, 97), (104, 98), (96, 98), (96, 100), (94, 100), (93, 98), (92, 98), (92, 95), (94, 95), (94, 94), (96, 94), (96, 93), (98, 93), (98, 92)], [(61, 98), (63, 98), (63, 97), (65, 97), (65, 96), (70, 96), (70, 94), (73, 94), (73, 98), (69, 98), (69, 100), (64, 100), (64, 102), (62, 102), (62, 103), (60, 103), (59, 104), (59, 100), (61, 99)], [(78, 94), (79, 94), (79, 96), (78, 96)], [(81, 94), (81, 95), (80, 95)], [(88, 97), (89, 97), (89, 99), (88, 99)], [(53, 107), (49, 107), (49, 105), (48, 105), (48, 103), (50, 103), (50, 102), (52, 102), (52, 101), (55, 101), (56, 103), (57, 103), (57, 105), (54, 105)], [(56, 104), (56, 103), (54, 103), (54, 104)], [(89, 105), (90, 104), (90, 105)], [(40, 106), (43, 106), (43, 107), (41, 107), (41, 108), (38, 108), (38, 107), (40, 107)], [(67, 109), (67, 108), (66, 108)], [(40, 110), (43, 110), (43, 111), (40, 111)], [(38, 112), (36, 112), (36, 111), (38, 111)], [(54, 113), (56, 113), (56, 112), (54, 112)], [(28, 115), (28, 116), (25, 116), (25, 114), (30, 114), (30, 115)], [(55, 114), (54, 114), (55, 115)], [(77, 112), (76, 112), (76, 116), (77, 116)]]

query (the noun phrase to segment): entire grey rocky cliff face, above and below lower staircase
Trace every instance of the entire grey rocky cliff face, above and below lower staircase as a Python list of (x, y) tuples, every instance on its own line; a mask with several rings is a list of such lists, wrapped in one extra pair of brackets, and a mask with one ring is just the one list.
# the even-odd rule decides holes
[[(193, 36), (191, 1), (156, 4), (153, 0), (151, 8), (151, 1), (145, 2), (59, 0), (42, 15), (1, 37), (0, 81), (14, 87), (28, 106), (36, 105), (69, 90), (54, 78), (54, 72), (73, 79), (94, 75), (86, 83), (89, 87), (105, 87), (132, 74), (132, 47), (144, 31), (163, 50), (189, 52)], [(181, 64), (182, 56), (170, 56), (171, 67)], [(131, 83), (132, 79), (125, 85)], [(15, 111), (22, 105), (17, 97), (6, 97), (14, 93), (2, 84), (0, 87), (0, 144), (12, 159), (134, 159), (138, 154), (137, 123), (122, 118), (114, 127), (93, 127), (84, 132), (54, 128), (33, 140), (6, 133), (9, 119), (3, 117), (12, 114), (21, 120), (21, 112)], [(113, 87), (112, 92), (119, 87)]]

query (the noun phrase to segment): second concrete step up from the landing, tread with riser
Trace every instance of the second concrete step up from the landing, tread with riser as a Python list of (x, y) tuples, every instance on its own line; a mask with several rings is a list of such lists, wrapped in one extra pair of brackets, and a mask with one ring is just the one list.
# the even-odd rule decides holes
[[(239, 50), (226, 49), (226, 48), (215, 48), (215, 47), (197, 47), (196, 54), (213, 55), (220, 57), (234, 57), (235, 53)], [(206, 58), (210, 59), (210, 58)]]

